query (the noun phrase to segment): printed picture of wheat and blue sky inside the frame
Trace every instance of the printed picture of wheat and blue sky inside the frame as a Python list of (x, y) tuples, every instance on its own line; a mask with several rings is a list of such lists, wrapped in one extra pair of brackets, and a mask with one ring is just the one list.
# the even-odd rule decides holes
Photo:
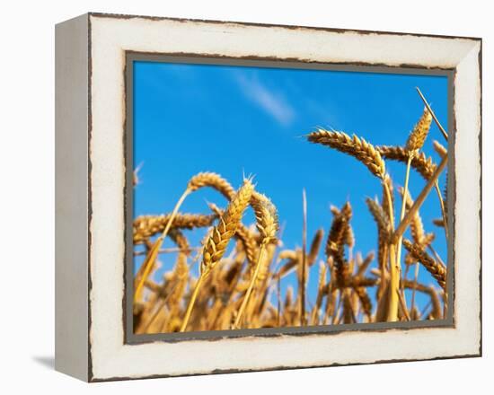
[(448, 78), (133, 61), (133, 332), (445, 320)]

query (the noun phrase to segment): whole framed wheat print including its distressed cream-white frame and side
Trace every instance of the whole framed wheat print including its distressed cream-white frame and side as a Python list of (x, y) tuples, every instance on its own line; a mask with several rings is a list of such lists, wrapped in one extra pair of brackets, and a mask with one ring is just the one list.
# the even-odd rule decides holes
[(56, 368), (481, 355), (481, 40), (56, 29)]

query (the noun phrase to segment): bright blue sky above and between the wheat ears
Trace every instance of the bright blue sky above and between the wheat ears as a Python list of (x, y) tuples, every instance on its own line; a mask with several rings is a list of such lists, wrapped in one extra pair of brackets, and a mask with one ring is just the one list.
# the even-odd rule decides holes
[[(142, 164), (142, 182), (135, 189), (134, 214), (172, 211), (187, 181), (199, 171), (220, 173), (235, 188), (243, 174), (252, 174), (257, 189), (278, 207), (285, 248), (302, 243), (305, 189), (309, 242), (319, 228), (327, 234), (330, 205), (342, 206), (349, 199), (355, 251), (366, 255), (376, 249), (376, 233), (365, 199), (380, 195), (379, 180), (360, 162), (309, 144), (304, 135), (326, 127), (355, 133), (374, 145), (403, 145), (424, 107), (416, 86), (447, 126), (445, 76), (135, 62), (134, 164)], [(445, 145), (433, 124), (424, 151), (438, 162), (434, 139)], [(404, 166), (387, 164), (395, 183), (402, 185)], [(444, 182), (445, 175), (442, 187)], [(412, 197), (423, 186), (412, 171)], [(181, 211), (205, 213), (208, 201), (225, 206), (223, 198), (205, 189), (191, 195)], [(437, 232), (435, 248), (446, 259), (444, 234), (431, 224), (440, 216), (434, 194), (420, 213), (426, 230)], [(251, 214), (245, 216), (246, 223), (252, 221)], [(194, 245), (203, 235), (188, 233)], [(172, 256), (161, 260), (164, 269), (172, 268)], [(317, 281), (316, 266), (313, 270), (311, 289)], [(432, 283), (424, 269), (420, 280)]]

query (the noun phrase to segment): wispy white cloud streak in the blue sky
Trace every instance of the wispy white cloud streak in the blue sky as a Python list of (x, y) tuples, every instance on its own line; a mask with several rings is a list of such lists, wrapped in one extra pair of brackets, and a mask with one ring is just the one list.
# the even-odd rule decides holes
[(260, 83), (255, 76), (235, 75), (236, 81), (247, 99), (257, 104), (282, 126), (289, 126), (296, 117), (296, 111), (290, 106), (281, 92), (274, 92)]

